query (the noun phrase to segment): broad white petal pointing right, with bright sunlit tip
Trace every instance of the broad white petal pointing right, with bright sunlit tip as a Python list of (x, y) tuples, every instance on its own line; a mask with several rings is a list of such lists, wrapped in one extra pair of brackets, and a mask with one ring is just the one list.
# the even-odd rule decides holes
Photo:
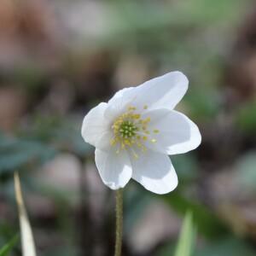
[[(147, 117), (150, 117), (148, 130), (151, 131), (146, 142), (148, 148), (165, 154), (182, 154), (200, 145), (201, 133), (197, 125), (183, 113), (155, 109), (143, 115), (143, 118)], [(154, 133), (154, 130), (159, 132)], [(150, 139), (156, 142), (152, 143)]]

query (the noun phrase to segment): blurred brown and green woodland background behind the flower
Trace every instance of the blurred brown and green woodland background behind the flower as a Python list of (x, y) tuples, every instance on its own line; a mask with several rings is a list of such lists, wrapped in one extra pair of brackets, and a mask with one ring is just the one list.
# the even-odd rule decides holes
[(124, 256), (172, 255), (188, 209), (195, 255), (256, 255), (255, 24), (249, 0), (1, 0), (0, 247), (19, 232), (19, 171), (38, 255), (113, 255), (114, 194), (80, 136), (84, 114), (180, 70), (177, 109), (203, 141), (172, 157), (171, 194), (125, 188)]

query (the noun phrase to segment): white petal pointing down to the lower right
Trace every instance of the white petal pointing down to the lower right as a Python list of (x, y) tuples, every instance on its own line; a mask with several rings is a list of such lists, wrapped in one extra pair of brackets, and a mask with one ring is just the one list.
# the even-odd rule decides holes
[(166, 194), (177, 187), (177, 174), (166, 154), (147, 150), (131, 158), (131, 166), (132, 178), (151, 192)]

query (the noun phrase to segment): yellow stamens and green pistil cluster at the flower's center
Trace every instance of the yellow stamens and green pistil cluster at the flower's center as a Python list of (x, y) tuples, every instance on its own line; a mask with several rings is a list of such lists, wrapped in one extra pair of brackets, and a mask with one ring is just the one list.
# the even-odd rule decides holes
[[(150, 118), (143, 119), (141, 114), (136, 113), (135, 107), (127, 108), (126, 112), (121, 114), (114, 120), (113, 138), (110, 141), (111, 146), (116, 147), (116, 154), (119, 154), (120, 150), (131, 149), (134, 157), (138, 157), (136, 151), (146, 151), (144, 146), (145, 142), (156, 143), (156, 139), (152, 137), (152, 133), (158, 133), (157, 129), (153, 131), (148, 130), (148, 123)], [(143, 109), (147, 109), (145, 106)], [(135, 147), (134, 147), (135, 146)]]

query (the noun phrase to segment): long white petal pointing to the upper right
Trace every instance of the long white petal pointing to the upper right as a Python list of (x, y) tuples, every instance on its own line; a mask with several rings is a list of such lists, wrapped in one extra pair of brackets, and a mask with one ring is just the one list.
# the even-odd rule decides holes
[(112, 105), (130, 102), (132, 106), (143, 109), (168, 108), (173, 109), (188, 90), (189, 80), (178, 71), (166, 73), (155, 79), (137, 86), (117, 92), (109, 101)]

